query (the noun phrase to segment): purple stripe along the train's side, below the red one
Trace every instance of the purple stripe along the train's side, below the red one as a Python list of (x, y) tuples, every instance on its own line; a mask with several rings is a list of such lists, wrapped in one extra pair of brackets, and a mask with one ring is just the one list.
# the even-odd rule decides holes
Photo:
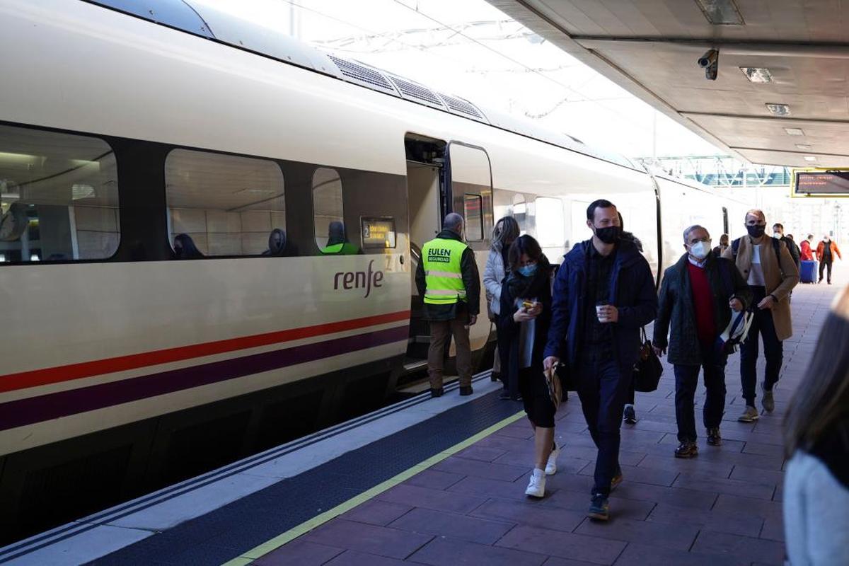
[(155, 395), (166, 395), (200, 385), (242, 378), (252, 373), (267, 372), (306, 361), (391, 344), (406, 340), (408, 333), (409, 329), (406, 326), (387, 328), (232, 360), (213, 361), (200, 366), (152, 373), (109, 384), (89, 385), (29, 399), (8, 401), (0, 404), (0, 430), (14, 429), (52, 418), (68, 417), (79, 412), (94, 411)]

